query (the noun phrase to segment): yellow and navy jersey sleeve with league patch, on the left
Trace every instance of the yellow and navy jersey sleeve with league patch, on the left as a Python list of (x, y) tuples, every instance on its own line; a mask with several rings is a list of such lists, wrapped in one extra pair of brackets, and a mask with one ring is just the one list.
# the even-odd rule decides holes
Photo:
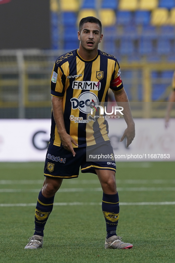
[(65, 75), (61, 67), (54, 64), (51, 75), (51, 95), (63, 97), (65, 93)]

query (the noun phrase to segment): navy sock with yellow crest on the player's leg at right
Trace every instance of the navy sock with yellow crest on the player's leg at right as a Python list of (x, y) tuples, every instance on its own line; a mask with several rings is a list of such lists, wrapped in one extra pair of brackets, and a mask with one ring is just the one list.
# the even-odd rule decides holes
[(117, 194), (103, 193), (102, 211), (106, 221), (106, 238), (112, 237), (116, 234), (119, 218), (119, 198)]

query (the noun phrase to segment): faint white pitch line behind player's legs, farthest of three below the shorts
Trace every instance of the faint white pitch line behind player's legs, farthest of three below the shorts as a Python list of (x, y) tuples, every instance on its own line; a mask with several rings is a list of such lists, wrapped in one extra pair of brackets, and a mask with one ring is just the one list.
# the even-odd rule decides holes
[[(44, 178), (43, 180), (0, 180), (0, 185), (4, 185), (4, 184), (43, 184), (44, 182)], [(130, 180), (120, 180), (117, 179), (116, 180), (117, 184), (175, 184), (175, 180), (159, 180), (159, 179), (155, 179), (155, 180), (145, 180), (145, 179), (139, 179), (139, 180), (134, 180), (134, 179), (130, 179)], [(71, 180), (64, 180), (63, 184), (99, 184), (99, 180), (93, 179), (93, 180), (80, 180), (80, 179), (71, 179)]]

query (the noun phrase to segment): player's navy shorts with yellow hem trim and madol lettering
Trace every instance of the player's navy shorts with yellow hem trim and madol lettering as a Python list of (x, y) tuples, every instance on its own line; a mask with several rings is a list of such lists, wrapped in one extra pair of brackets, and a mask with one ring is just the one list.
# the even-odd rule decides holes
[[(105, 149), (106, 146), (109, 149), (109, 153), (113, 154), (113, 148), (110, 145), (110, 141), (105, 142)], [(93, 147), (94, 145), (92, 145), (92, 148)], [(104, 144), (101, 145), (101, 147), (104, 147)], [(91, 172), (97, 174), (95, 169), (116, 172), (114, 158), (108, 161), (86, 161), (86, 147), (74, 148), (74, 151), (76, 152), (75, 157), (73, 157), (71, 152), (65, 150), (64, 147), (55, 146), (49, 143), (44, 166), (44, 176), (76, 178), (78, 177), (80, 167), (83, 173)]]

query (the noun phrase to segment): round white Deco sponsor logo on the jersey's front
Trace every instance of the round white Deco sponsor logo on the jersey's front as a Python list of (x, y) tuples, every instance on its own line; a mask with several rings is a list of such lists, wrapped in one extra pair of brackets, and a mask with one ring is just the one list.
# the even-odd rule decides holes
[(78, 98), (70, 99), (73, 110), (80, 110), (83, 113), (91, 113), (92, 106), (98, 105), (98, 97), (92, 92), (83, 92)]

